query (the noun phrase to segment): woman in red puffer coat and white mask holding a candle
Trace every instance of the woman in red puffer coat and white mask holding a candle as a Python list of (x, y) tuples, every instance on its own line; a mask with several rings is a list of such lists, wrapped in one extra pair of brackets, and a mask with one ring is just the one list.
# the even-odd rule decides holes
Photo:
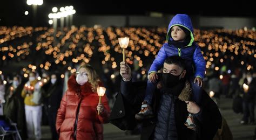
[(108, 122), (110, 108), (105, 95), (98, 104), (98, 86), (102, 83), (90, 65), (80, 66), (77, 75), (70, 76), (57, 114), (59, 139), (103, 139), (103, 123)]

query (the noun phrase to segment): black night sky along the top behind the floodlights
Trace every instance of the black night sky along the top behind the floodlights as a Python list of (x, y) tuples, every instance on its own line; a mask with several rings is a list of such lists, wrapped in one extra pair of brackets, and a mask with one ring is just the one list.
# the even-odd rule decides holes
[[(149, 12), (162, 12), (166, 14), (187, 13), (199, 16), (228, 16), (228, 17), (256, 17), (255, 5), (250, 1), (225, 2), (224, 1), (86, 1), (86, 0), (44, 0), (39, 6), (37, 17), (39, 25), (48, 21), (48, 14), (53, 6), (73, 5), (79, 15), (147, 15)], [(24, 12), (28, 10), (29, 16)], [(24, 25), (30, 23), (32, 16), (31, 6), (26, 0), (5, 0), (1, 2), (0, 25)]]

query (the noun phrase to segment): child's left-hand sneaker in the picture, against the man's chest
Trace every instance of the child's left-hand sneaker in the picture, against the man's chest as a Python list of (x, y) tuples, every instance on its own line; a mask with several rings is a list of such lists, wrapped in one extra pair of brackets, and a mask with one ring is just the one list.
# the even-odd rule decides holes
[(153, 116), (152, 108), (146, 101), (142, 102), (142, 110), (135, 115), (136, 120), (143, 120)]

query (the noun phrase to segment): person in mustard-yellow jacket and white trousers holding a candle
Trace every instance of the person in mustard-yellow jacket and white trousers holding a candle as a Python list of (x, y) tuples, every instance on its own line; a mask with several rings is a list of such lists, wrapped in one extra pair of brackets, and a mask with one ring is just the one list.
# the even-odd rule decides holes
[[(36, 79), (36, 73), (29, 73), (29, 81), (25, 83), (22, 90), (22, 97), (25, 103), (25, 116), (28, 138), (41, 138), (41, 118), (42, 118), (42, 106), (40, 103), (33, 101), (35, 92), (41, 90), (38, 80)], [(33, 136), (35, 135), (35, 136)]]

